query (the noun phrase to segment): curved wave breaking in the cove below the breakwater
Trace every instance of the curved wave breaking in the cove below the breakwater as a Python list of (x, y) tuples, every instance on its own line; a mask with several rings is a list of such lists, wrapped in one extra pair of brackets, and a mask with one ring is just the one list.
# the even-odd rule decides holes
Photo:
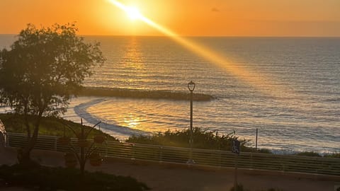
[[(102, 103), (106, 99), (96, 99), (96, 100), (91, 100), (86, 103), (81, 103), (77, 106), (74, 107), (74, 112), (81, 118), (84, 118), (87, 122), (91, 124), (96, 124), (98, 122), (98, 119), (94, 116), (92, 116), (89, 112), (87, 112), (87, 108), (91, 107), (92, 105), (96, 105), (98, 103)], [(144, 132), (142, 130), (138, 129), (131, 129), (129, 127), (123, 127), (119, 125), (112, 125), (108, 124), (106, 122), (101, 122), (101, 129), (106, 129), (110, 132), (117, 132), (119, 134), (124, 134), (128, 136), (132, 135), (148, 135), (149, 132)]]

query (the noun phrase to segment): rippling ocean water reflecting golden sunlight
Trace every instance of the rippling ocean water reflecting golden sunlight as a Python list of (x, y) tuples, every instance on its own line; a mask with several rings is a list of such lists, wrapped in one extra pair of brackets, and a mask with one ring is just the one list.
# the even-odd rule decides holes
[[(193, 126), (229, 134), (276, 152), (340, 152), (339, 37), (186, 37), (249, 72), (244, 78), (169, 37), (86, 36), (101, 42), (107, 61), (84, 86), (174, 91), (215, 99), (193, 102)], [(0, 35), (0, 48), (13, 35)], [(254, 81), (253, 79), (260, 79)], [(4, 110), (4, 109), (3, 109)], [(186, 100), (73, 98), (67, 120), (86, 120), (120, 139), (186, 129)]]

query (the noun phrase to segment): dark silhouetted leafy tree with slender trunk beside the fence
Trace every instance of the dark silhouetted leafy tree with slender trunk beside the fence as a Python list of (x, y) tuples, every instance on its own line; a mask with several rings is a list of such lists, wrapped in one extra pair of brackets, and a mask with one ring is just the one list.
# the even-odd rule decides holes
[(25, 118), (28, 144), (18, 154), (21, 163), (30, 161), (42, 117), (65, 112), (91, 68), (105, 60), (98, 42), (84, 42), (76, 33), (74, 24), (28, 24), (11, 49), (0, 51), (0, 102)]

